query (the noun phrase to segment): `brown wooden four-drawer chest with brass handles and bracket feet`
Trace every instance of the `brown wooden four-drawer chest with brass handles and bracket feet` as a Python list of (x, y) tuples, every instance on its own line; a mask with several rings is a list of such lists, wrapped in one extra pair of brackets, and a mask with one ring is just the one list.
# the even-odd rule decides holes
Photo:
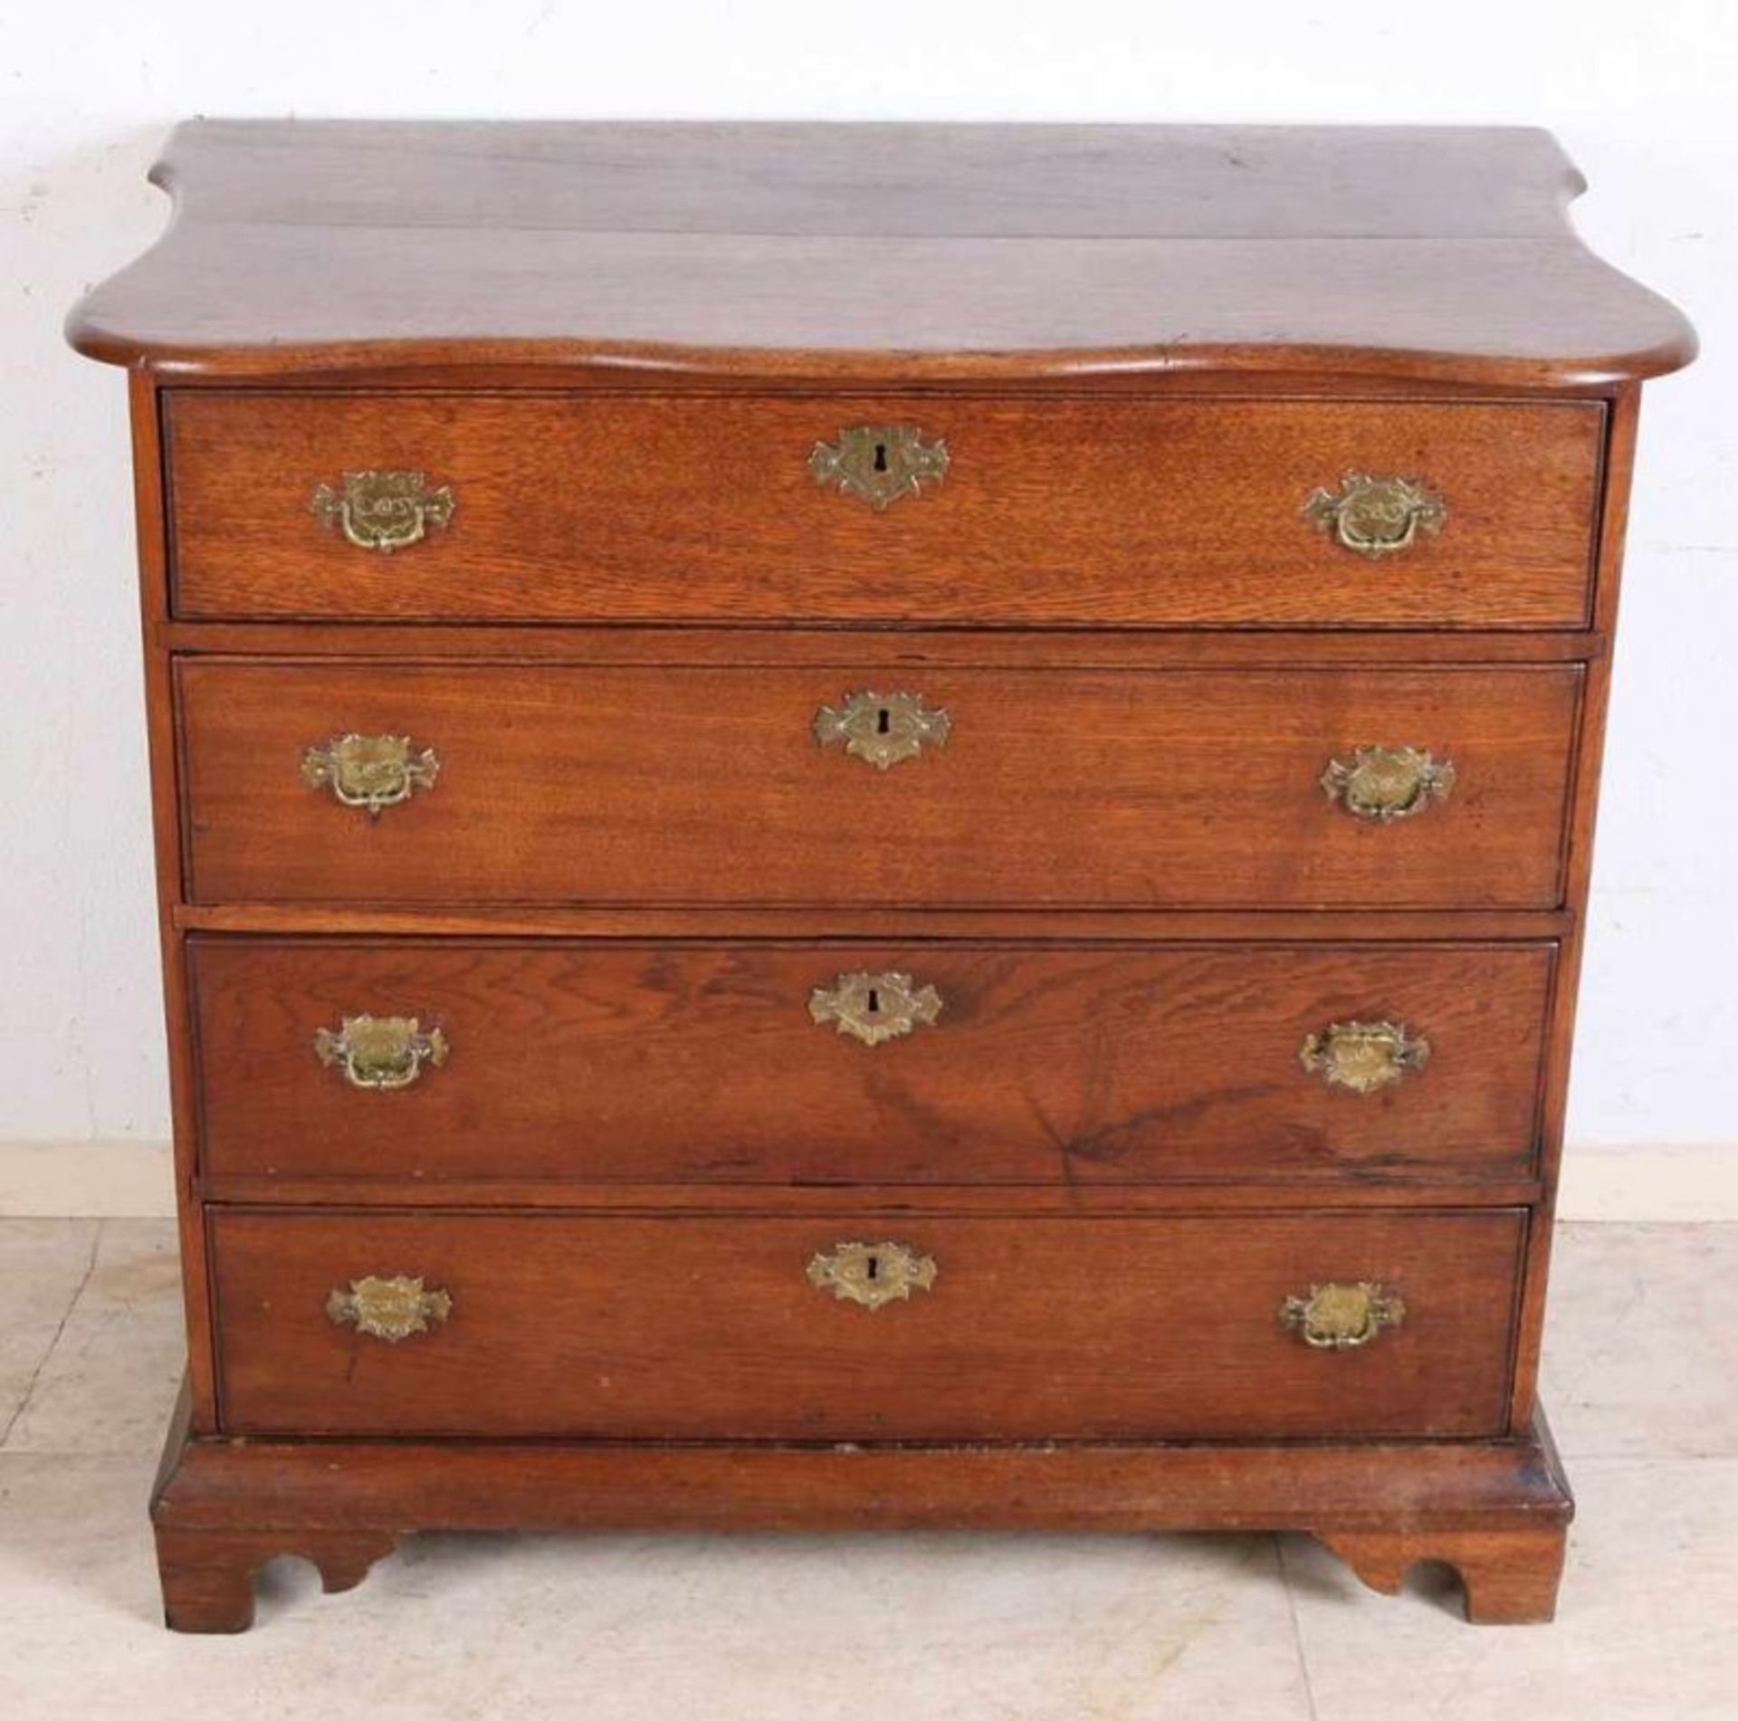
[(1545, 1618), (1637, 395), (1536, 132), (196, 123), (132, 375), (169, 1622), (419, 1528)]

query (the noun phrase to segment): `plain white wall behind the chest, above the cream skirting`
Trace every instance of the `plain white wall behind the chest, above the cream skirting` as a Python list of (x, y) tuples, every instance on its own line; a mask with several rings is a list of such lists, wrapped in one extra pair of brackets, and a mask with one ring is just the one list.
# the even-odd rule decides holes
[(1738, 1149), (1722, 0), (90, 0), (0, 14), (0, 1139), (167, 1135), (122, 379), (61, 344), (207, 115), (1550, 125), (1705, 356), (1644, 414), (1571, 1137)]

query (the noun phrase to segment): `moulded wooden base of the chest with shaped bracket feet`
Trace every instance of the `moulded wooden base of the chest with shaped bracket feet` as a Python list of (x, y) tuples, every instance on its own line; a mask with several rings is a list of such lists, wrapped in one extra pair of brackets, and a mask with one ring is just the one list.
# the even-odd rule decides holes
[(1561, 1549), (1573, 1509), (1543, 1422), (1481, 1443), (551, 1446), (191, 1439), (184, 1408), (151, 1498), (179, 1631), (245, 1631), (269, 1554), (346, 1587), (410, 1526), (1310, 1530), (1366, 1582), (1387, 1584), (1408, 1549), (1451, 1558), (1474, 1618), (1493, 1603), (1516, 1617), (1517, 1601), (1549, 1610), (1516, 1578), (1549, 1563), (1542, 1544)]

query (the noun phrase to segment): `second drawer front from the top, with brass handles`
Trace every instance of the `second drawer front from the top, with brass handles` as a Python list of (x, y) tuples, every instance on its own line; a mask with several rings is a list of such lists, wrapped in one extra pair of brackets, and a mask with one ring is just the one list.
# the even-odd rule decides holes
[[(395, 906), (1547, 907), (1580, 687), (1576, 666), (191, 661), (189, 890)], [(850, 697), (876, 688), (923, 706)], [(403, 768), (349, 772), (330, 748), (346, 734), (408, 737)], [(912, 756), (878, 768), (883, 741)], [(1375, 805), (1359, 765), (1371, 746), (1411, 761), (1411, 815), (1349, 810)], [(1429, 772), (1453, 770), (1451, 786), (1429, 779), (1441, 796), (1425, 754)], [(1347, 786), (1354, 770), (1363, 787)], [(403, 798), (370, 815), (375, 791)]]

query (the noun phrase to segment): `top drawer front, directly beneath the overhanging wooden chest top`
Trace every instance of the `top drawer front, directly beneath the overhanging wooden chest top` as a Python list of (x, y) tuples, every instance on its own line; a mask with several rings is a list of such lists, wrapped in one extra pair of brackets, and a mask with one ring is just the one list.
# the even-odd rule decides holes
[[(169, 396), (174, 601), (186, 617), (1573, 628), (1602, 428), (1602, 407), (1569, 402), (189, 389)], [(859, 468), (855, 429), (921, 440), (866, 440)], [(827, 475), (827, 449), (867, 494)], [(403, 476), (348, 487), (358, 471)], [(1423, 494), (1342, 497), (1347, 473)], [(916, 494), (876, 506), (902, 478)]]

